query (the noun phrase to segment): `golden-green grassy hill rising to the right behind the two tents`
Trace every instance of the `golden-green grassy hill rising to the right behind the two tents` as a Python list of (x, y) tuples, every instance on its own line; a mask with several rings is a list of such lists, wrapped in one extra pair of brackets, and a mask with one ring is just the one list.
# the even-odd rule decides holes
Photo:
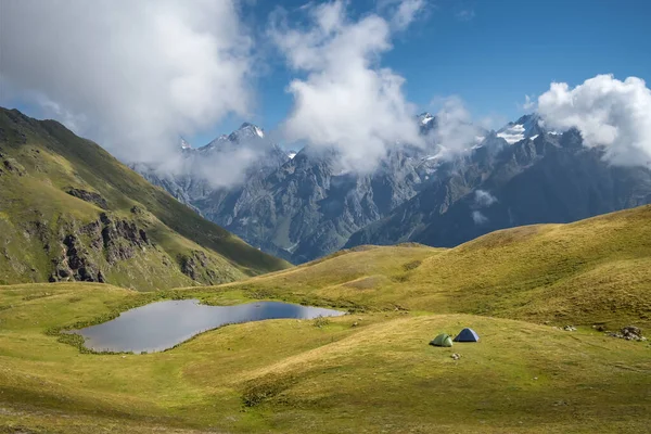
[(651, 206), (507, 229), (450, 250), (356, 248), (215, 290), (368, 309), (648, 327)]

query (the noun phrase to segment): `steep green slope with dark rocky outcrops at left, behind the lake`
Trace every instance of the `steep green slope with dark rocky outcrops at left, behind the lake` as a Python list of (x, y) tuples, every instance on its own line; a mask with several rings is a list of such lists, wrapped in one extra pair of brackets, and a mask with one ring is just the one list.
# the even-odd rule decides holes
[(153, 290), (288, 266), (61, 124), (0, 108), (0, 283), (82, 280)]

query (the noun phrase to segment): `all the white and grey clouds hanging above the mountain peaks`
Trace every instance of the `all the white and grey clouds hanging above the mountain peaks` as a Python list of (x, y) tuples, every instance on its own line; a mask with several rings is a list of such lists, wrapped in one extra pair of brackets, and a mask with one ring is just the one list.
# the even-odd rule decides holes
[[(123, 161), (187, 171), (193, 168), (177, 153), (179, 136), (251, 116), (255, 72), (280, 54), (293, 73), (293, 106), (273, 141), (334, 149), (345, 169), (362, 173), (397, 142), (441, 145), (444, 158), (468, 152), (480, 128), (463, 101), (445, 99), (437, 128), (423, 137), (405, 77), (382, 65), (393, 39), (435, 13), (431, 4), (383, 0), (361, 15), (349, 5), (277, 9), (263, 31), (277, 50), (269, 53), (256, 51), (258, 37), (237, 0), (5, 0), (0, 103), (28, 99)], [(527, 97), (525, 108), (537, 110), (547, 127), (576, 127), (586, 145), (604, 145), (613, 164), (651, 162), (651, 91), (643, 80), (554, 82), (535, 101)], [(239, 182), (260, 150), (222, 153), (203, 162), (201, 173), (217, 186)]]

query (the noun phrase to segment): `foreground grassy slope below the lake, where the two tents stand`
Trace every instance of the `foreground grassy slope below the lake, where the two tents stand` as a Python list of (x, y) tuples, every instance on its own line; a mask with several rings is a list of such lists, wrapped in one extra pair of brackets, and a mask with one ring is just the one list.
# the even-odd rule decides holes
[[(381, 311), (320, 328), (297, 320), (231, 326), (138, 356), (79, 354), (44, 333), (149, 295), (86, 283), (0, 289), (0, 426), (639, 433), (651, 422), (649, 344), (589, 328)], [(464, 326), (478, 331), (478, 344), (427, 345), (438, 332)]]

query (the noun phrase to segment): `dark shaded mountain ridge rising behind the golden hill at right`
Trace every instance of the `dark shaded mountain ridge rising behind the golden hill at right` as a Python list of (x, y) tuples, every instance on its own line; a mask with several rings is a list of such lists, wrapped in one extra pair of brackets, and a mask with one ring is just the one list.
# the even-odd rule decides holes
[(455, 246), (515, 226), (571, 222), (651, 203), (651, 170), (612, 166), (580, 135), (545, 133), (499, 150), (478, 149), (347, 247), (413, 241)]

